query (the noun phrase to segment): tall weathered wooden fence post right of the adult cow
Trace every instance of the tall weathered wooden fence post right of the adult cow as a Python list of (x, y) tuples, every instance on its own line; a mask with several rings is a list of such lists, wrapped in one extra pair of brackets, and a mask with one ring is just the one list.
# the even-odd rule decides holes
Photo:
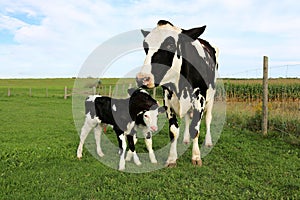
[(268, 57), (263, 61), (262, 134), (268, 134)]

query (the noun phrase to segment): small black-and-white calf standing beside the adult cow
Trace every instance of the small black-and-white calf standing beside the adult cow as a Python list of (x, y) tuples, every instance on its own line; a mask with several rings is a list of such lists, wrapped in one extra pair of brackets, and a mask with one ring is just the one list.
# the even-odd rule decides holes
[(136, 131), (142, 129), (152, 163), (157, 163), (152, 149), (152, 132), (157, 131), (157, 115), (164, 107), (143, 89), (129, 89), (129, 98), (114, 99), (110, 97), (91, 95), (85, 101), (86, 118), (81, 129), (77, 157), (82, 157), (82, 148), (89, 132), (94, 128), (97, 154), (104, 156), (100, 138), (102, 126), (110, 124), (116, 132), (119, 143), (119, 170), (125, 169), (126, 137), (129, 150), (126, 160), (133, 160), (136, 165), (141, 162), (135, 152)]

